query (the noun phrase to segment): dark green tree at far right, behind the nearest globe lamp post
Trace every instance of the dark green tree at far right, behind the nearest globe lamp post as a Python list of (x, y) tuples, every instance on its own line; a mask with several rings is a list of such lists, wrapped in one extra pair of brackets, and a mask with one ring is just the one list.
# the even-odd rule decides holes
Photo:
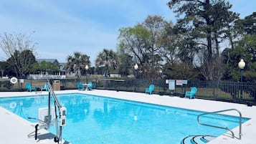
[(234, 22), (233, 32), (237, 34), (236, 42), (232, 49), (224, 49), (222, 57), (226, 64), (226, 72), (224, 73), (224, 80), (240, 80), (240, 73), (237, 63), (240, 59), (246, 62), (244, 80), (256, 81), (256, 12), (245, 19), (238, 19)]

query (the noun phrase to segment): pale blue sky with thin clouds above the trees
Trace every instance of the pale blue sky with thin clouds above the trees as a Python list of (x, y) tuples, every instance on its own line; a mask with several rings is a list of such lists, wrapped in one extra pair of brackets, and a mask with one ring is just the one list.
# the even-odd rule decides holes
[[(37, 59), (57, 59), (81, 52), (94, 65), (103, 49), (117, 49), (118, 29), (134, 27), (148, 15), (175, 23), (169, 0), (0, 0), (0, 36), (32, 34)], [(244, 18), (256, 11), (255, 0), (229, 0)], [(0, 61), (8, 57), (0, 49)]]

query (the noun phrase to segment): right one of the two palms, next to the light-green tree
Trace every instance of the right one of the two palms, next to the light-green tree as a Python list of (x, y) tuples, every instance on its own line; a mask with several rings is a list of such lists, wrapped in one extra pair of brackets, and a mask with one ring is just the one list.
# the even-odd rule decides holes
[(108, 77), (108, 67), (118, 68), (118, 54), (116, 54), (112, 49), (103, 49), (103, 52), (98, 54), (95, 61), (96, 67), (105, 67), (105, 77)]

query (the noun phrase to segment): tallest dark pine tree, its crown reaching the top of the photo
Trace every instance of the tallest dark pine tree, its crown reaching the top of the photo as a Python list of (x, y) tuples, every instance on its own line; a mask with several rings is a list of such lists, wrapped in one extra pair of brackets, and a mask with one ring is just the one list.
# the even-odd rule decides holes
[(219, 45), (238, 14), (229, 11), (232, 5), (224, 0), (171, 0), (168, 5), (178, 16), (184, 16), (178, 19), (177, 25), (187, 34), (189, 42), (201, 49), (199, 54), (204, 54), (202, 67), (207, 70), (206, 80), (214, 80), (214, 64), (210, 63), (218, 59)]

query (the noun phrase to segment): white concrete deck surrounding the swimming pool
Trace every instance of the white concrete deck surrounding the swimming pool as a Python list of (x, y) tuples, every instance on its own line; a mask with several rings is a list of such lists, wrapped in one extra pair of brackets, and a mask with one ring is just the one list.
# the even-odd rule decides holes
[[(112, 90), (93, 90), (93, 91), (78, 91), (78, 90), (63, 90), (56, 91), (55, 94), (60, 93), (85, 93), (89, 95), (100, 95), (104, 97), (113, 97), (123, 100), (133, 100), (138, 102), (147, 102), (157, 105), (166, 105), (171, 107), (181, 107), (191, 110), (200, 110), (205, 112), (214, 112), (218, 110), (237, 109), (242, 113), (242, 117), (248, 117), (250, 120), (242, 124), (242, 139), (238, 140), (239, 127), (234, 128), (234, 136), (231, 138), (230, 133), (224, 134), (210, 141), (209, 144), (255, 144), (256, 141), (256, 107), (247, 107), (247, 105), (235, 104), (231, 102), (217, 102), (212, 100), (201, 99), (185, 99), (181, 97), (170, 97), (167, 95), (148, 95), (138, 92), (116, 92)], [(28, 95), (47, 95), (47, 92), (0, 92), (0, 97), (11, 96), (28, 96)], [(229, 111), (224, 114), (239, 116), (237, 112)], [(0, 143), (14, 144), (14, 143), (54, 143), (52, 135), (47, 130), (40, 131), (43, 137), (40, 140), (34, 140), (34, 136), (29, 137), (29, 133), (34, 131), (34, 125), (24, 120), (4, 108), (0, 107)], [(170, 135), (172, 136), (172, 135)], [(68, 143), (68, 142), (62, 142)], [(71, 142), (72, 143), (72, 142)]]

